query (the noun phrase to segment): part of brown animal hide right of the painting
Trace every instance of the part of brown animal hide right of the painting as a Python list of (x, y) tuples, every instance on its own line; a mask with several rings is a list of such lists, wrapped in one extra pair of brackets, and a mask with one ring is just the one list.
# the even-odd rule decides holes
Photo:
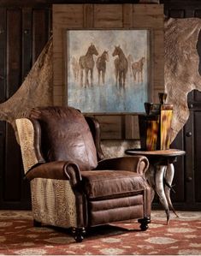
[(189, 110), (187, 95), (201, 91), (197, 50), (201, 20), (198, 18), (168, 19), (165, 26), (164, 80), (167, 102), (174, 104), (171, 142), (185, 125)]

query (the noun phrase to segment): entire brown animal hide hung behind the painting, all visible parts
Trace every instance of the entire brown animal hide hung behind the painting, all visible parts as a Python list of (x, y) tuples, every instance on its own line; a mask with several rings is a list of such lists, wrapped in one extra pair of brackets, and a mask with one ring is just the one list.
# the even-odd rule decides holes
[[(201, 91), (197, 51), (200, 29), (201, 21), (196, 18), (171, 18), (165, 21), (165, 91), (168, 92), (167, 102), (174, 104), (171, 141), (189, 116), (188, 92), (193, 89)], [(15, 128), (15, 119), (28, 116), (33, 107), (53, 104), (52, 52), (50, 39), (20, 89), (9, 100), (0, 104), (0, 120), (10, 122)], [(103, 140), (103, 151), (107, 157), (120, 156), (125, 148), (139, 146), (132, 140), (109, 141), (109, 138), (112, 139), (112, 136)]]

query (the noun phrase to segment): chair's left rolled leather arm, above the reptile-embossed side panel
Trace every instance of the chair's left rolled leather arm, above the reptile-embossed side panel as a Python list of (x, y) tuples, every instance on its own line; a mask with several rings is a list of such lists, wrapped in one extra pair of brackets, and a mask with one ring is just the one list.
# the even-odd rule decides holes
[(81, 181), (80, 169), (70, 161), (56, 161), (40, 164), (29, 170), (26, 175), (29, 181), (34, 178), (69, 180), (72, 186)]

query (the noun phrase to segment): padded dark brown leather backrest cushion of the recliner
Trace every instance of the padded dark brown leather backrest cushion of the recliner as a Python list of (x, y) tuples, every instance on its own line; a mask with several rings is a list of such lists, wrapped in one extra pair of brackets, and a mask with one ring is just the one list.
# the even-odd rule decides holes
[(47, 162), (73, 161), (80, 170), (97, 167), (97, 150), (85, 117), (71, 107), (33, 109), (41, 129), (41, 152)]

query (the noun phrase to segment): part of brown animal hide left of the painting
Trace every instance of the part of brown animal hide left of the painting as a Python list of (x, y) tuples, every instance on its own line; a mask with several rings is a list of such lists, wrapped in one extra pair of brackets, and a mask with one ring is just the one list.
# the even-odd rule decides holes
[(33, 107), (53, 104), (52, 66), (52, 39), (50, 39), (18, 91), (0, 104), (0, 120), (11, 123), (16, 131), (16, 118), (29, 116)]

